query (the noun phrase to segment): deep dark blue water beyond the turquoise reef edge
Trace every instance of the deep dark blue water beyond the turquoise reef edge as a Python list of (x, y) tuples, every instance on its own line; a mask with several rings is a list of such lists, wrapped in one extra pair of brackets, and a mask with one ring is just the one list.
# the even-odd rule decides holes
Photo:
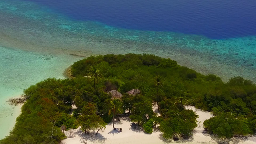
[(222, 39), (256, 35), (256, 0), (27, 0), (77, 21)]

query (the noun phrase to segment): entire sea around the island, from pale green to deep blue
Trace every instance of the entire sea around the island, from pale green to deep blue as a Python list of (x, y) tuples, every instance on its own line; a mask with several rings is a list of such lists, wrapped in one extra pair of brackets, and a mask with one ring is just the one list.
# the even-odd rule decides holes
[(0, 139), (20, 113), (8, 98), (89, 55), (150, 53), (256, 83), (255, 14), (256, 0), (0, 0)]

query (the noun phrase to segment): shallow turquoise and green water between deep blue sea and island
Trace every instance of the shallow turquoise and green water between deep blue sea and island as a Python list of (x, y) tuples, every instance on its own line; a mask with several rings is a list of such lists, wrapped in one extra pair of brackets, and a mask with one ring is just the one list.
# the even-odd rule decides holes
[(0, 0), (0, 46), (0, 130), (6, 130), (0, 138), (8, 134), (18, 114), (5, 101), (48, 77), (63, 78), (63, 70), (82, 59), (70, 54), (151, 53), (204, 74), (217, 74), (224, 81), (243, 76), (256, 82), (256, 36), (209, 39), (121, 29), (71, 20), (27, 1)]

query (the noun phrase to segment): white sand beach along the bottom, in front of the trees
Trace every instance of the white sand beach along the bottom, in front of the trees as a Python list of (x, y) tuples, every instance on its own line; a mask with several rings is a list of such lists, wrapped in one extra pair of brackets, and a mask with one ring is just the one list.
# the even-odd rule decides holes
[[(156, 112), (157, 107), (153, 107)], [(193, 137), (188, 140), (180, 140), (174, 142), (168, 141), (162, 137), (162, 133), (159, 131), (154, 131), (152, 134), (147, 134), (140, 130), (133, 130), (130, 126), (130, 119), (120, 118), (121, 121), (115, 121), (116, 128), (122, 128), (122, 132), (114, 131), (112, 123), (106, 126), (106, 129), (102, 132), (98, 132), (98, 135), (95, 135), (95, 132), (92, 132), (89, 135), (86, 135), (79, 128), (72, 130), (72, 134), (67, 133), (67, 139), (62, 141), (62, 144), (174, 144), (174, 143), (183, 143), (183, 144), (218, 144), (218, 142), (223, 142), (219, 139), (215, 139), (209, 134), (203, 132), (203, 121), (212, 117), (210, 112), (204, 112), (195, 107), (186, 107), (192, 109), (199, 115), (198, 126), (195, 128)], [(69, 133), (69, 134), (68, 134)], [(230, 140), (230, 144), (256, 144), (256, 137), (248, 137), (244, 140), (233, 138)]]

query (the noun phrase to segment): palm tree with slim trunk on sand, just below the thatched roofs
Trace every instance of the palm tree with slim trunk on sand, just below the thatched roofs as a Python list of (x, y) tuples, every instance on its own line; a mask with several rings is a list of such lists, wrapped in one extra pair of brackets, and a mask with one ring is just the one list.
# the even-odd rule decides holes
[(122, 114), (122, 103), (119, 99), (112, 99), (110, 100), (110, 110), (109, 110), (109, 115), (113, 115), (113, 129), (115, 130), (114, 127), (114, 117), (116, 114)]

